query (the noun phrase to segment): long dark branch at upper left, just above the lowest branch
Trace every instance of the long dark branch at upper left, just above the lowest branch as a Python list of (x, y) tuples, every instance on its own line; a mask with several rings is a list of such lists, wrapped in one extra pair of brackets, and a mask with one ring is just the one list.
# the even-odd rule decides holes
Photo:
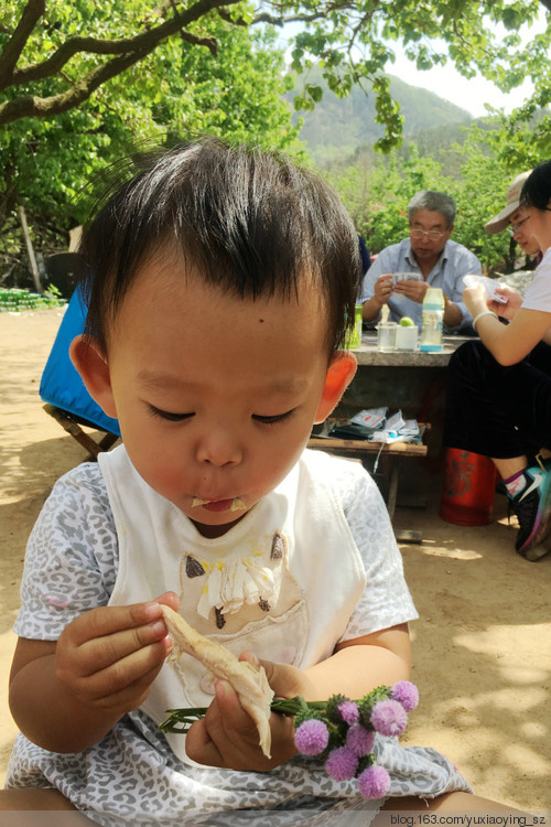
[[(41, 0), (43, 2), (43, 0)], [(98, 40), (96, 37), (69, 37), (60, 49), (47, 60), (42, 63), (35, 63), (21, 69), (14, 69), (8, 78), (8, 83), (0, 83), (0, 90), (7, 86), (17, 86), (20, 84), (41, 80), (57, 74), (63, 66), (77, 53), (87, 54), (118, 54), (129, 53), (149, 54), (163, 40), (185, 29), (186, 25), (207, 14), (219, 6), (229, 6), (237, 3), (238, 0), (198, 0), (190, 9), (182, 11), (171, 20), (161, 23), (158, 26), (149, 29), (134, 37), (121, 37), (120, 40)], [(185, 36), (186, 40), (195, 44), (205, 45), (213, 51), (213, 39), (202, 39), (201, 43), (193, 40), (194, 35)], [(3, 62), (3, 55), (0, 58), (0, 66)], [(108, 65), (108, 64), (106, 64)], [(130, 64), (131, 65), (131, 64)], [(13, 67), (12, 67), (13, 68)], [(2, 75), (0, 74), (0, 77)]]

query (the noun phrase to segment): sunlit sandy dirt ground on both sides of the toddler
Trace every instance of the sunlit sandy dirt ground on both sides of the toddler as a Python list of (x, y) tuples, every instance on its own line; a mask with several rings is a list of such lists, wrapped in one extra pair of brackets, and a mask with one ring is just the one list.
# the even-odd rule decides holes
[[(26, 537), (55, 480), (85, 457), (39, 398), (61, 319), (0, 313), (0, 783), (17, 733), (7, 686)], [(530, 563), (515, 554), (504, 497), (490, 525), (458, 527), (437, 515), (437, 476), (429, 488), (426, 508), (396, 514), (398, 527), (423, 533), (401, 546), (421, 615), (421, 704), (404, 740), (444, 752), (479, 795), (551, 809), (551, 555)]]

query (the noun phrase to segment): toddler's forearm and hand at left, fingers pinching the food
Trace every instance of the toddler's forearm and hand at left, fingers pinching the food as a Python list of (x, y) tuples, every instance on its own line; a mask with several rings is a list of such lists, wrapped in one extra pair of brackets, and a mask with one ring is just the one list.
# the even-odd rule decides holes
[(19, 638), (10, 707), (23, 734), (52, 752), (77, 752), (139, 707), (172, 647), (161, 603), (177, 598), (93, 609), (57, 641)]

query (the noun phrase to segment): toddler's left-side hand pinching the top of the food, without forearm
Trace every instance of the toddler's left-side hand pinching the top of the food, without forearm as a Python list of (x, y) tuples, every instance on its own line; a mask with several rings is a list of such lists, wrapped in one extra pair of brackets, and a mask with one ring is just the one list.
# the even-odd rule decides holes
[(93, 609), (63, 631), (56, 675), (78, 704), (123, 715), (143, 702), (172, 647), (160, 602)]

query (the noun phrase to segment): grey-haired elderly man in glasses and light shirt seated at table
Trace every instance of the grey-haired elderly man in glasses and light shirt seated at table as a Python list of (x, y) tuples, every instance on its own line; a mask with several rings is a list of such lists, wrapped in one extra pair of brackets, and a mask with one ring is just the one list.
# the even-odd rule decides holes
[[(377, 321), (388, 304), (390, 321), (409, 316), (421, 325), (426, 289), (440, 287), (445, 300), (446, 330), (469, 325), (471, 313), (463, 303), (463, 277), (480, 273), (482, 268), (473, 253), (451, 240), (456, 215), (454, 200), (442, 192), (423, 190), (410, 201), (408, 215), (409, 238), (381, 250), (364, 279), (359, 298), (364, 321)], [(411, 278), (396, 282), (393, 273), (411, 273)]]

